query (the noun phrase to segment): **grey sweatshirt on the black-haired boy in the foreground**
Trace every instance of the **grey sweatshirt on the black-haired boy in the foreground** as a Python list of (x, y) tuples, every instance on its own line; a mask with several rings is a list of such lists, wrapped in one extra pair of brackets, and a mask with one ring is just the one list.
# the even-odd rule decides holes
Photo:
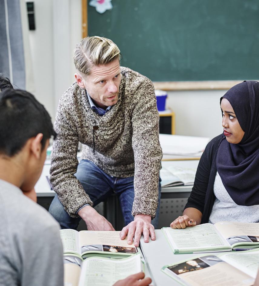
[(14, 185), (0, 180), (0, 285), (63, 286), (59, 225)]

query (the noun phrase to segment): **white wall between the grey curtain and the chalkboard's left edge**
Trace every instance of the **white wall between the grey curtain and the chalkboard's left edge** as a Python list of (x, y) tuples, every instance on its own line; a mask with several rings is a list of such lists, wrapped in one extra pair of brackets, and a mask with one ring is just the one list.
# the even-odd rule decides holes
[(74, 81), (72, 51), (81, 39), (81, 0), (34, 0), (34, 6), (36, 30), (29, 31), (34, 95), (54, 121), (58, 99)]

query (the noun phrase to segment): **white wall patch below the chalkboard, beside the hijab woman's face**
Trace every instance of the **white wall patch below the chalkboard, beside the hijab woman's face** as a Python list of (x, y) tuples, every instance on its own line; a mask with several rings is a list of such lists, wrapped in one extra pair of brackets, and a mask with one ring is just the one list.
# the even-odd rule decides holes
[(175, 113), (178, 135), (213, 138), (223, 132), (219, 100), (225, 90), (170, 91), (167, 108)]

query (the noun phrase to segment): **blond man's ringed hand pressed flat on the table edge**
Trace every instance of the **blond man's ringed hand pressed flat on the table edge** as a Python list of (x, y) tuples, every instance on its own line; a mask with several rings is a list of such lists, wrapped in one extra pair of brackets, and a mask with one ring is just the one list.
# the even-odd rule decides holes
[(139, 246), (141, 234), (143, 232), (144, 242), (156, 239), (154, 226), (151, 224), (151, 216), (148, 214), (136, 214), (134, 221), (131, 221), (127, 226), (123, 227), (120, 232), (121, 239), (124, 239), (128, 234), (128, 244), (132, 243), (134, 237), (134, 246)]

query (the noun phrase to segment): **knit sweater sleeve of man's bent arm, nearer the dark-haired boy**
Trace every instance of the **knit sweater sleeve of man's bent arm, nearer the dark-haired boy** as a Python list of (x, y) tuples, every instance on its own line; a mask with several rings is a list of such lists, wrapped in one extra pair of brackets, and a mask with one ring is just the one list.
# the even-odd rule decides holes
[(92, 206), (93, 203), (74, 176), (78, 166), (77, 127), (62, 100), (58, 106), (55, 131), (57, 138), (51, 152), (50, 181), (67, 213), (77, 217), (76, 213), (81, 206)]

